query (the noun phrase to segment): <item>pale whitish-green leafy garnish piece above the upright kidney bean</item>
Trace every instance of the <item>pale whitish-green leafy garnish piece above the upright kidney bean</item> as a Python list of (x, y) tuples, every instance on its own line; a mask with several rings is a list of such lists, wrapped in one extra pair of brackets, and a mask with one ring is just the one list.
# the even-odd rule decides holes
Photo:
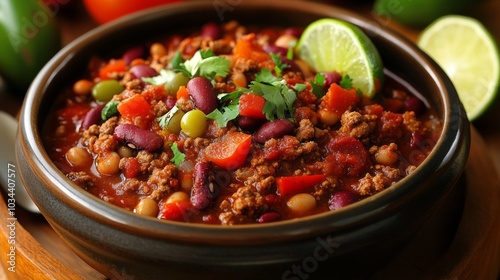
[(191, 59), (181, 63), (179, 67), (190, 77), (203, 76), (213, 80), (215, 76), (225, 77), (229, 72), (230, 61), (222, 56), (216, 56), (212, 50), (198, 50)]

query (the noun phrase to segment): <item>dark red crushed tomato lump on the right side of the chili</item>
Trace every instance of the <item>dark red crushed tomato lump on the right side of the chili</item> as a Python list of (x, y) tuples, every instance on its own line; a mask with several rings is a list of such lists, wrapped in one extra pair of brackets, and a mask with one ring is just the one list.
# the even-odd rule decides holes
[(370, 155), (365, 146), (350, 136), (334, 136), (327, 144), (325, 173), (335, 177), (363, 176), (371, 166)]

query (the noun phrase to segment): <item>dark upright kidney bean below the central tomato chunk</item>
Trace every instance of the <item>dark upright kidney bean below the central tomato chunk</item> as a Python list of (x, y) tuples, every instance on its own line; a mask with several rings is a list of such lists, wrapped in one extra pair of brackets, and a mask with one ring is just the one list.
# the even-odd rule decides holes
[(211, 180), (210, 163), (201, 161), (194, 166), (191, 204), (198, 210), (207, 208), (216, 197), (218, 186)]

